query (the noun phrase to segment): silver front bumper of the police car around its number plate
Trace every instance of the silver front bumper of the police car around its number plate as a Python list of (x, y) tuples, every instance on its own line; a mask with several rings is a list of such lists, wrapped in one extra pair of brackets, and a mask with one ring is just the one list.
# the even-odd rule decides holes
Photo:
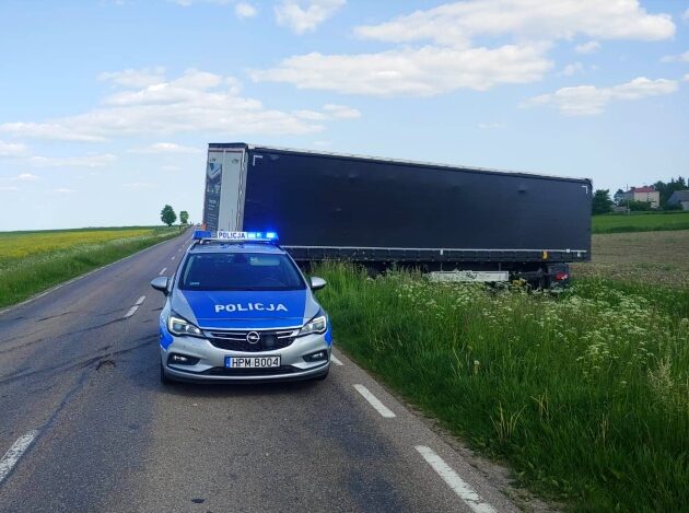
[[(318, 351), (326, 351), (327, 360), (308, 362), (304, 359)], [(194, 365), (168, 362), (171, 354), (198, 359)], [(161, 363), (167, 377), (192, 382), (265, 383), (310, 380), (327, 374), (330, 368), (330, 345), (325, 334), (296, 338), (290, 346), (260, 352), (221, 349), (209, 340), (195, 337), (172, 336), (167, 347), (161, 345)], [(279, 368), (226, 369), (225, 357), (280, 357)]]

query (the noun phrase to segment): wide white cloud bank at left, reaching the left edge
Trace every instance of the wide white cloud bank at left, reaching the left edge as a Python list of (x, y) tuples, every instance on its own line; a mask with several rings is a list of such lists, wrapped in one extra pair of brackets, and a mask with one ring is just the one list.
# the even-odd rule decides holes
[[(238, 82), (198, 70), (145, 86), (126, 85), (84, 114), (39, 123), (0, 124), (0, 133), (67, 141), (103, 141), (122, 136), (170, 136), (198, 131), (233, 135), (313, 133), (324, 126), (240, 95)], [(141, 82), (142, 83), (142, 82)]]

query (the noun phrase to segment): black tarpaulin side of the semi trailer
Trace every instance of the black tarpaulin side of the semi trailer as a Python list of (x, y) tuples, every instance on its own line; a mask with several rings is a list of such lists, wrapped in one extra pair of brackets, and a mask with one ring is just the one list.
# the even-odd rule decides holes
[(243, 144), (211, 150), (238, 147), (246, 151), (243, 228), (276, 231), (288, 247), (394, 252), (402, 259), (427, 249), (588, 259), (585, 178)]

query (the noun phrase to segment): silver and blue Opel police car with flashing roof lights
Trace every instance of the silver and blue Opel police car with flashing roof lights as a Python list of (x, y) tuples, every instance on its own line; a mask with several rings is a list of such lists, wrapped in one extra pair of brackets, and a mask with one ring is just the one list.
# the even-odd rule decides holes
[(175, 275), (151, 287), (160, 316), (161, 381), (324, 380), (330, 320), (277, 234), (196, 231)]

